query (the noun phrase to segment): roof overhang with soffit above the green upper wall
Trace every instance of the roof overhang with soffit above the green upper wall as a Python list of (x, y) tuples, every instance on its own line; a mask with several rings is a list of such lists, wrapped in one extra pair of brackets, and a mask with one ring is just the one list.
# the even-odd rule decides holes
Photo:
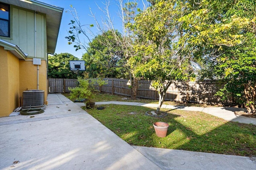
[(54, 53), (64, 8), (36, 0), (0, 0), (0, 2), (46, 14), (47, 53)]

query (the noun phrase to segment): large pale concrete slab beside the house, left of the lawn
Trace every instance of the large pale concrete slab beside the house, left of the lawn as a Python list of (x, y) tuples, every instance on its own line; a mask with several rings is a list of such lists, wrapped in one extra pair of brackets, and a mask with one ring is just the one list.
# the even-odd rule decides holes
[(79, 106), (62, 102), (34, 117), (0, 118), (1, 170), (161, 169)]

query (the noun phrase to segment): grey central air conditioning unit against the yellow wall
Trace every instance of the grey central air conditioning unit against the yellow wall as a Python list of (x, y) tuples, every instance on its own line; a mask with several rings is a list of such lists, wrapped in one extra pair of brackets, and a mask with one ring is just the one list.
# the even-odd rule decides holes
[(23, 108), (44, 106), (44, 90), (23, 91)]

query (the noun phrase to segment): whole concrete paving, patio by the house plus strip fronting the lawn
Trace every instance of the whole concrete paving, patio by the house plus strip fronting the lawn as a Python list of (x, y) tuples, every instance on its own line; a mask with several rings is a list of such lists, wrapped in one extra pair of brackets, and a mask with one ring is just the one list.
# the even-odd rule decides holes
[(131, 146), (62, 94), (38, 115), (0, 118), (0, 169), (254, 170), (256, 158)]

